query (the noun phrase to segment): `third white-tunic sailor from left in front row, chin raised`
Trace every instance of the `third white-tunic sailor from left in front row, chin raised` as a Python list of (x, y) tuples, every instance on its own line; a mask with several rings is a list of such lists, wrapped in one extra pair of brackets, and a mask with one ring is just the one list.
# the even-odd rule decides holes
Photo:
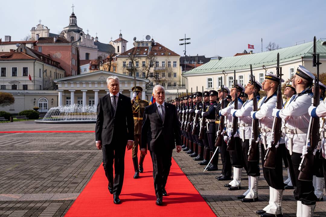
[[(284, 80), (282, 79), (282, 82)], [(260, 127), (260, 145), (261, 145), (261, 165), (265, 163), (265, 155), (267, 151), (268, 142), (271, 141), (272, 127), (274, 117), (272, 116), (273, 109), (276, 105), (276, 92), (280, 83), (280, 79), (275, 75), (267, 72), (265, 80), (263, 81), (262, 90), (266, 92), (265, 97), (261, 98), (258, 102), (258, 111), (251, 112), (251, 117), (259, 119)], [(269, 187), (269, 204), (262, 210), (256, 213), (260, 216), (282, 216), (281, 201), (284, 191), (283, 183), (283, 164), (281, 149), (277, 150), (277, 162), (275, 169), (269, 169), (263, 166), (264, 178)]]

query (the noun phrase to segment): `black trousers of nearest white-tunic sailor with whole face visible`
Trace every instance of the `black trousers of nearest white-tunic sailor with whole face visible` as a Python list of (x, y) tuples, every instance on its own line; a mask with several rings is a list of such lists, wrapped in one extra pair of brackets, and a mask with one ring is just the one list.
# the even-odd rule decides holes
[(293, 195), (296, 200), (300, 200), (304, 205), (314, 205), (316, 204), (317, 197), (314, 193), (315, 189), (312, 181), (301, 181), (298, 179), (300, 173), (299, 165), (302, 160), (301, 155), (293, 152), (291, 156), (289, 151), (287, 154), (291, 181), (294, 187)]

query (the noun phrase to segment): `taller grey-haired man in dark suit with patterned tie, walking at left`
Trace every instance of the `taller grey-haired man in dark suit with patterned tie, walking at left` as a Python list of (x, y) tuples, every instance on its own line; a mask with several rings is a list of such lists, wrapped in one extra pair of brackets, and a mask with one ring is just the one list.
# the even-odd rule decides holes
[(119, 93), (119, 78), (110, 76), (107, 84), (110, 94), (100, 97), (97, 104), (95, 138), (97, 149), (102, 149), (108, 189), (113, 194), (113, 202), (119, 204), (125, 173), (126, 145), (128, 150), (133, 145), (134, 119), (130, 98)]

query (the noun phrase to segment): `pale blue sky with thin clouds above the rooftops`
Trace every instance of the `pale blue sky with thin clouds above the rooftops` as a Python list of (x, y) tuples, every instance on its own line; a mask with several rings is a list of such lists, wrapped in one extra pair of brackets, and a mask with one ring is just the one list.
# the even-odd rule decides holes
[(72, 12), (83, 31), (97, 36), (100, 42), (108, 43), (111, 37), (123, 38), (132, 47), (132, 38), (137, 40), (147, 34), (154, 40), (184, 55), (179, 39), (190, 37), (187, 55), (211, 57), (233, 56), (255, 45), (254, 52), (263, 51), (272, 41), (280, 47), (289, 47), (296, 42), (312, 41), (313, 36), (326, 38), (326, 1), (3, 1), (0, 37), (11, 35), (20, 40), (38, 20), (58, 33), (68, 25)]

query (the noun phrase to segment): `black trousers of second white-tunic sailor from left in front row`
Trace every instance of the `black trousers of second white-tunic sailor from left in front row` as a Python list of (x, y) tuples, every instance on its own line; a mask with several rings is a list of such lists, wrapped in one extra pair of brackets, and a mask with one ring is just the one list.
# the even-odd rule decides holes
[(248, 161), (249, 139), (245, 139), (244, 141), (241, 139), (241, 143), (244, 158), (244, 170), (247, 172), (248, 176), (260, 176), (259, 151), (257, 152), (258, 161)]

